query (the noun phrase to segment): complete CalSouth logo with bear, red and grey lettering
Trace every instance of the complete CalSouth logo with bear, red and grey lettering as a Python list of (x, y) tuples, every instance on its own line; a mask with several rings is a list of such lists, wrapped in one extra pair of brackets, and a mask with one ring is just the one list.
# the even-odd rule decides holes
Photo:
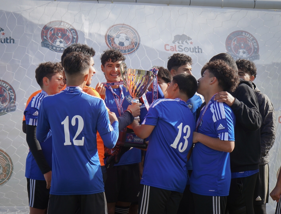
[(202, 48), (198, 45), (193, 44), (194, 42), (192, 42), (192, 38), (185, 34), (175, 35), (172, 43), (174, 45), (172, 45), (171, 43), (167, 43), (164, 45), (165, 51), (202, 53)]

